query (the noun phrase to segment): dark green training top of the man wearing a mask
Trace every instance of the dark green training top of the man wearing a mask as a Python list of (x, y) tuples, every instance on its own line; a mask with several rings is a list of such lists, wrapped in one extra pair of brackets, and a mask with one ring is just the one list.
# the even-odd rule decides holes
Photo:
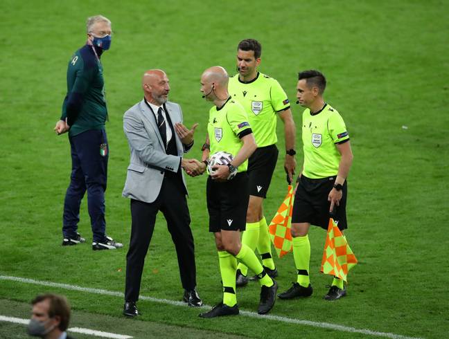
[(107, 108), (100, 55), (100, 48), (94, 50), (94, 46), (85, 45), (69, 61), (67, 95), (61, 116), (71, 126), (69, 136), (105, 128)]

